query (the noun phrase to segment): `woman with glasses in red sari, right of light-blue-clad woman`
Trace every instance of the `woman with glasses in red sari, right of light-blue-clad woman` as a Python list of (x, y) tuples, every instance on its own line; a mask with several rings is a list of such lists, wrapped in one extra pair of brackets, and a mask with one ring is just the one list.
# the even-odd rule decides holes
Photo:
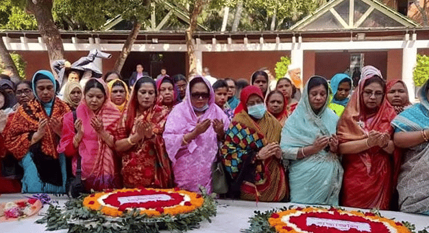
[(396, 113), (385, 94), (379, 76), (365, 77), (337, 125), (344, 168), (342, 206), (389, 209), (399, 154), (390, 124)]

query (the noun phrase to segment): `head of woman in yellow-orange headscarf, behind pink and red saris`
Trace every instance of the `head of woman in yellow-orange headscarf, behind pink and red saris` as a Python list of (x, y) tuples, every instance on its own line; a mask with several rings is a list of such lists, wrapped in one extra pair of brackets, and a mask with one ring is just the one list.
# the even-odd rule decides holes
[(110, 92), (110, 100), (117, 106), (118, 110), (123, 113), (127, 107), (128, 100), (130, 100), (130, 93), (128, 93), (127, 83), (121, 79), (113, 79), (108, 82)]

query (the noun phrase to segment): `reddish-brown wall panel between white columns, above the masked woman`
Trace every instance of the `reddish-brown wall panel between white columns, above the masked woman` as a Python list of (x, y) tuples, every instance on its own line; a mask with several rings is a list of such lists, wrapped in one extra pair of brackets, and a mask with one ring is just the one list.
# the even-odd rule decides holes
[(203, 67), (210, 69), (210, 74), (217, 78), (247, 79), (262, 67), (268, 67), (275, 75), (275, 64), (282, 56), (291, 57), (290, 51), (236, 51), (204, 52)]

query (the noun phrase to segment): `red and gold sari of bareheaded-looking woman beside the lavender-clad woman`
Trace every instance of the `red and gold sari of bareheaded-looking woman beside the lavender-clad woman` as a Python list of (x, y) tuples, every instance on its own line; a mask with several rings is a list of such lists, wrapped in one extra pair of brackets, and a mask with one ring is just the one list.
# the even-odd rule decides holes
[[(135, 86), (135, 85), (134, 85)], [(136, 146), (122, 152), (122, 175), (126, 187), (173, 187), (171, 162), (165, 149), (164, 125), (169, 115), (169, 109), (154, 105), (136, 117), (138, 111), (136, 88), (132, 89), (127, 110), (123, 113), (117, 127), (116, 139), (124, 139), (136, 133), (134, 122), (145, 120), (151, 123), (155, 137), (143, 139)]]

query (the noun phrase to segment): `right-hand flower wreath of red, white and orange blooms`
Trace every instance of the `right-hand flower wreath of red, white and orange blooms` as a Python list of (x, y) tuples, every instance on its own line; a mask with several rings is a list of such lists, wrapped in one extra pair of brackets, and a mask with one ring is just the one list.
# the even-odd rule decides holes
[[(310, 221), (309, 221), (310, 218)], [(316, 219), (316, 221), (312, 221)], [(317, 221), (323, 219), (323, 221)], [(366, 224), (371, 232), (378, 233), (410, 233), (415, 226), (408, 222), (397, 222), (387, 219), (377, 212), (363, 213), (360, 211), (347, 211), (341, 208), (323, 207), (289, 207), (279, 210), (267, 210), (265, 213), (255, 211), (250, 218), (250, 228), (243, 232), (262, 233), (300, 233), (300, 232), (362, 232), (356, 228), (355, 223)], [(324, 223), (324, 225), (323, 225)], [(333, 228), (349, 227), (349, 230)], [(364, 225), (365, 226), (365, 225)], [(368, 232), (368, 231), (363, 231)], [(426, 231), (424, 231), (426, 232)]]

